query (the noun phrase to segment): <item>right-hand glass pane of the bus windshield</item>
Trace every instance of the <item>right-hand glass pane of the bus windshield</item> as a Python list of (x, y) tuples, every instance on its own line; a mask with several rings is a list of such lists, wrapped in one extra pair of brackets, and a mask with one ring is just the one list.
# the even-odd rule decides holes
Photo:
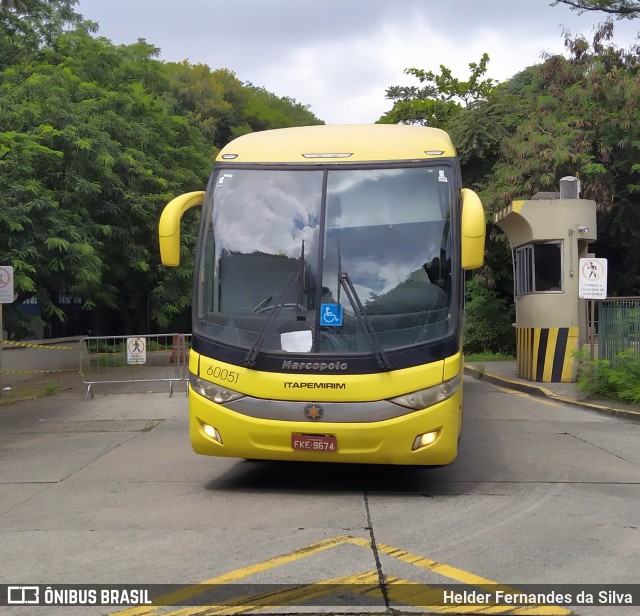
[(320, 350), (364, 351), (366, 341), (339, 272), (348, 271), (383, 348), (447, 332), (450, 182), (445, 169), (345, 170), (329, 174), (323, 304), (344, 307), (340, 328), (322, 329)]

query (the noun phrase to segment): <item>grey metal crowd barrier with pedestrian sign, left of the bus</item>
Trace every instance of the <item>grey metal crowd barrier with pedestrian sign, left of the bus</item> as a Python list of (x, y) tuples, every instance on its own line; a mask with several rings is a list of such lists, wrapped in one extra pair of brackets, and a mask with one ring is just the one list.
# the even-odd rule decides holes
[(80, 340), (80, 378), (93, 398), (98, 383), (166, 382), (188, 376), (188, 334), (144, 336), (87, 336)]

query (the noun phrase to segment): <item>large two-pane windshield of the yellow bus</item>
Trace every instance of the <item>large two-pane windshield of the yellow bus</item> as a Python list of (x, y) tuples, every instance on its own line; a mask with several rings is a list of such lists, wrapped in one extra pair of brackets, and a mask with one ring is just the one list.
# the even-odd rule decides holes
[(194, 332), (249, 352), (332, 356), (449, 335), (454, 186), (442, 161), (218, 168)]

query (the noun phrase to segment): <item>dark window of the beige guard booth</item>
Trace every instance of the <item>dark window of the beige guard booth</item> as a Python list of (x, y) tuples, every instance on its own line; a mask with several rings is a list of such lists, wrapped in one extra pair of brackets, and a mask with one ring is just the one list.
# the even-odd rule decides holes
[(516, 295), (562, 291), (562, 242), (516, 248)]

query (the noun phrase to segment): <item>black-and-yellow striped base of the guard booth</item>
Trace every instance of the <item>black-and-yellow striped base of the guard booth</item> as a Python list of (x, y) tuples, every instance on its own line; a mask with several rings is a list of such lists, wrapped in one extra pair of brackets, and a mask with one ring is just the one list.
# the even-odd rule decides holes
[(519, 327), (516, 334), (518, 376), (538, 383), (570, 383), (577, 327)]

